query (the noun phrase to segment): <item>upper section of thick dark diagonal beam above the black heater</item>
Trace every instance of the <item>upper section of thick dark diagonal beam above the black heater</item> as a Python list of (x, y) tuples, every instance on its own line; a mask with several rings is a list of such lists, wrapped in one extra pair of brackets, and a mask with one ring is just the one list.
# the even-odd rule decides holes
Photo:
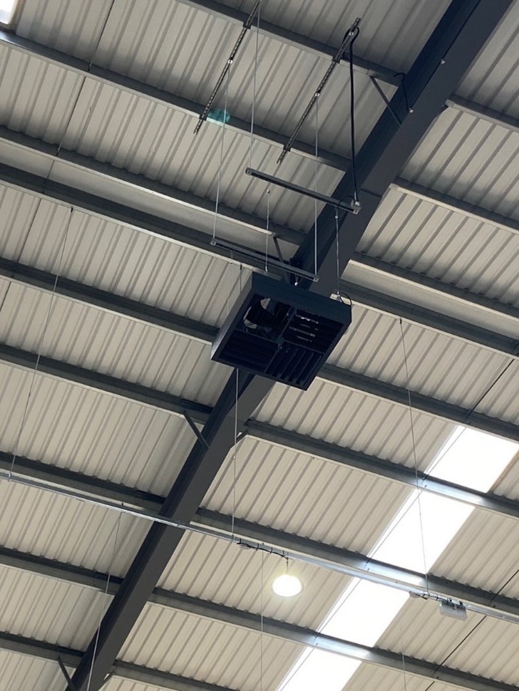
[[(394, 184), (408, 157), (418, 146), (433, 120), (441, 113), (447, 98), (455, 92), (461, 76), (487, 41), (489, 34), (485, 30), (485, 24), (490, 21), (495, 27), (509, 6), (509, 0), (502, 0), (498, 4), (490, 3), (488, 0), (474, 0), (466, 2), (463, 9), (460, 9), (456, 0), (451, 2), (437, 27), (441, 28), (442, 35), (438, 36), (436, 30), (431, 34), (425, 48), (406, 75), (406, 93), (402, 88), (396, 91), (391, 99), (391, 108), (386, 108), (359, 152), (356, 178), (361, 189), (360, 201), (363, 204), (363, 212), (368, 213), (357, 216), (349, 214), (347, 217), (342, 215), (339, 227), (341, 230), (344, 227), (348, 228), (349, 241), (347, 245), (343, 241), (339, 248), (340, 262), (351, 259), (366, 229), (366, 219), (371, 217), (370, 208), (374, 207), (375, 200), (381, 199), (390, 185)], [(498, 14), (492, 17), (494, 10), (497, 10)], [(454, 28), (456, 21), (453, 20), (456, 13), (459, 19), (461, 12), (464, 27), (458, 32)], [(467, 30), (468, 27), (470, 30)], [(431, 59), (433, 55), (434, 58)], [(395, 113), (398, 120), (394, 118)], [(377, 165), (374, 165), (375, 162)], [(353, 194), (354, 178), (349, 170), (330, 196), (345, 199)], [(324, 209), (319, 220), (321, 228), (334, 227), (333, 209)], [(333, 289), (333, 276), (336, 274), (335, 259), (332, 256), (334, 253), (331, 251), (333, 244), (334, 237), (327, 237), (327, 234), (322, 232), (317, 256), (318, 260), (327, 261), (324, 275), (329, 276), (327, 282), (330, 293)], [(309, 246), (310, 238), (307, 238), (294, 258), (304, 270), (308, 270), (313, 261)], [(311, 286), (310, 290), (322, 291), (323, 287), (324, 284), (321, 282), (320, 285)]]

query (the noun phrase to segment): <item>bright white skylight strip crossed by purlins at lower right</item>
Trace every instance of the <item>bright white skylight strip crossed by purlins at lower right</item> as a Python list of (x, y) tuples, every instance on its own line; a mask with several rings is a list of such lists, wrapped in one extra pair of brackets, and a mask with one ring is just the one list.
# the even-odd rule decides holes
[[(428, 474), (487, 492), (503, 474), (519, 445), (458, 427), (428, 467)], [(396, 566), (429, 571), (473, 511), (473, 506), (414, 490), (369, 556)], [(422, 537), (423, 528), (423, 537)], [(408, 593), (354, 578), (319, 631), (375, 645), (406, 603)], [(307, 648), (279, 691), (341, 691), (360, 660)]]

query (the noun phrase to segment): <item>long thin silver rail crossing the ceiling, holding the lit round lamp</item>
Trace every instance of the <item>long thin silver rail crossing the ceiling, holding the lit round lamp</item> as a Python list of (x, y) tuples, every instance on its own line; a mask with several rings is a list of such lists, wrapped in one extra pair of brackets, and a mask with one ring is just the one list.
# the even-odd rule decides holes
[(77, 492), (73, 489), (66, 489), (64, 487), (59, 487), (58, 485), (51, 484), (50, 482), (42, 482), (41, 480), (34, 480), (23, 475), (9, 472), (0, 472), (0, 479), (6, 479), (9, 482), (14, 482), (16, 484), (24, 485), (25, 487), (35, 487), (36, 489), (42, 489), (46, 492), (52, 492), (53, 494), (61, 494), (63, 497), (68, 497), (70, 499), (76, 499), (79, 502), (85, 502), (87, 504), (93, 504), (94, 506), (101, 506), (103, 509), (111, 509), (112, 511), (119, 511), (120, 513), (126, 514), (128, 516), (135, 516), (136, 518), (145, 519), (147, 521), (153, 521), (162, 523), (172, 528), (178, 528), (184, 531), (190, 531), (197, 534), (207, 535), (215, 539), (225, 540), (226, 542), (231, 542), (237, 544), (242, 548), (269, 551), (272, 554), (277, 554), (284, 558), (289, 558), (292, 561), (299, 561), (300, 563), (312, 564), (312, 566), (319, 566), (320, 568), (327, 568), (330, 571), (336, 571), (339, 573), (344, 573), (352, 578), (361, 578), (365, 581), (370, 581), (371, 583), (379, 583), (381, 585), (389, 586), (391, 588), (396, 588), (397, 590), (409, 593), (411, 596), (421, 598), (422, 600), (434, 600), (439, 603), (446, 603), (450, 606), (456, 608), (465, 608), (468, 611), (475, 612), (478, 614), (483, 614), (493, 618), (497, 618), (503, 621), (508, 621), (510, 623), (519, 624), (519, 616), (513, 613), (507, 613), (503, 611), (495, 611), (492, 606), (480, 605), (478, 603), (472, 603), (468, 601), (460, 601), (458, 599), (453, 599), (445, 596), (439, 591), (429, 591), (423, 590), (413, 583), (401, 580), (391, 575), (384, 575), (383, 573), (375, 573), (374, 571), (369, 571), (369, 565), (366, 568), (346, 566), (344, 564), (339, 564), (336, 562), (328, 561), (327, 558), (322, 558), (319, 556), (310, 556), (308, 554), (299, 554), (299, 552), (294, 552), (286, 549), (269, 548), (265, 543), (259, 542), (257, 540), (242, 538), (240, 534), (240, 526), (237, 526), (237, 534), (231, 534), (227, 529), (217, 529), (209, 528), (200, 524), (183, 524), (178, 521), (173, 521), (173, 519), (167, 516), (161, 516), (160, 514), (154, 514), (152, 511), (146, 511), (145, 509), (137, 509), (134, 506), (125, 506), (123, 504), (117, 504), (116, 502), (111, 502), (108, 499), (101, 499), (100, 497), (95, 497), (92, 494), (86, 494), (86, 492)]

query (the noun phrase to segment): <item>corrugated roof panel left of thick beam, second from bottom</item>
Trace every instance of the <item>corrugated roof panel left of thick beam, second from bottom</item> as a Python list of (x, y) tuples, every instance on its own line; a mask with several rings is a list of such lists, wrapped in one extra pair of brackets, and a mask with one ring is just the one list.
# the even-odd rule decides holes
[(83, 650), (111, 598), (74, 583), (0, 566), (0, 630)]

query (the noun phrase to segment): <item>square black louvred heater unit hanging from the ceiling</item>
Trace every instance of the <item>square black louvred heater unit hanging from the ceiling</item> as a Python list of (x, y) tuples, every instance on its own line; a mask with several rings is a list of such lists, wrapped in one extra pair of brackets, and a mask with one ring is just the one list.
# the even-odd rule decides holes
[(350, 323), (350, 305), (252, 274), (211, 359), (307, 389)]

